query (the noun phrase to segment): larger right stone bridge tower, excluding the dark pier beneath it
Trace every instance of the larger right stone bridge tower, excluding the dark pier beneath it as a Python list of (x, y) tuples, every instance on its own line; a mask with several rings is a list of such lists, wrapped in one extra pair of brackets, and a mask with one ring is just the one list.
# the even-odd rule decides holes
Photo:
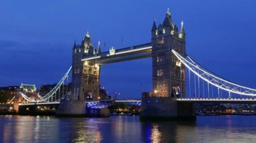
[(164, 22), (152, 27), (152, 74), (154, 95), (158, 97), (185, 97), (185, 66), (172, 54), (172, 49), (185, 55), (185, 30), (172, 22), (170, 11)]

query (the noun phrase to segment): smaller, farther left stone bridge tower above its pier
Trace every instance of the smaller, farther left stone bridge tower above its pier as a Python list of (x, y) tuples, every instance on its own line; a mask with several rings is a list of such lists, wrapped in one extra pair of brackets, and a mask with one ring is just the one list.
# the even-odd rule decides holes
[(84, 56), (95, 56), (100, 53), (100, 43), (98, 49), (94, 49), (87, 33), (81, 45), (73, 45), (72, 57), (72, 93), (75, 99), (80, 101), (98, 99), (100, 90), (100, 65), (95, 61), (83, 61)]

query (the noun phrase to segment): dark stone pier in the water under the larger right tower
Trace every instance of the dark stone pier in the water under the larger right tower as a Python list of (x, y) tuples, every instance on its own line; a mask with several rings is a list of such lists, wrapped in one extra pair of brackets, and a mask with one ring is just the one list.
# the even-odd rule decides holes
[(191, 103), (178, 103), (172, 97), (143, 97), (140, 119), (195, 121), (195, 107)]

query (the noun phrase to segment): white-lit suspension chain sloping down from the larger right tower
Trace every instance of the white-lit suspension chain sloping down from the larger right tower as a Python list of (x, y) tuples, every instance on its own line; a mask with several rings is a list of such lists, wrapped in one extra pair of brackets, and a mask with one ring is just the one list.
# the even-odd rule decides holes
[[(205, 81), (207, 84), (213, 85), (218, 88), (218, 97), (220, 97), (220, 89), (227, 91), (228, 93), (234, 93), (236, 95), (247, 95), (247, 96), (256, 96), (256, 89), (251, 89), (249, 87), (244, 87), (242, 85), (237, 85), (236, 83), (232, 83), (230, 81), (226, 81), (219, 76), (214, 75), (214, 73), (210, 72), (206, 68), (203, 68), (200, 64), (192, 60), (189, 56), (184, 58), (175, 50), (172, 50), (174, 56), (176, 56), (192, 73), (197, 75), (198, 78)], [(198, 81), (199, 83), (199, 81)], [(199, 86), (199, 85), (198, 85)], [(199, 87), (198, 87), (199, 88)], [(240, 90), (239, 90), (240, 89)], [(213, 90), (212, 90), (213, 92)], [(196, 93), (196, 91), (195, 91)]]

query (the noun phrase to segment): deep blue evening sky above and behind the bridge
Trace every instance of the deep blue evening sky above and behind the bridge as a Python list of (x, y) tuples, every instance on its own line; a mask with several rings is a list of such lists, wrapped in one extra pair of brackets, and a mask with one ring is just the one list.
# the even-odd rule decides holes
[[(168, 7), (179, 28), (184, 21), (187, 54), (256, 88), (255, 0), (1, 0), (0, 87), (57, 83), (71, 66), (74, 40), (80, 44), (87, 31), (103, 51), (151, 42), (153, 19), (162, 23)], [(106, 64), (100, 76), (108, 93), (139, 98), (141, 90), (152, 91), (152, 59)]]

